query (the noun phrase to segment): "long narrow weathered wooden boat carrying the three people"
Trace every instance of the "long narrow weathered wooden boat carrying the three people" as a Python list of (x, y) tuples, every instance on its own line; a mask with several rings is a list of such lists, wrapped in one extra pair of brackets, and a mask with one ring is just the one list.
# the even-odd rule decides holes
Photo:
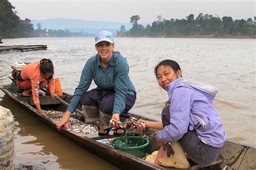
[[(40, 101), (43, 109), (57, 110), (55, 114), (40, 114), (33, 106), (31, 97), (22, 97), (20, 93), (15, 92), (14, 84), (4, 84), (0, 86), (0, 89), (20, 104), (24, 109), (31, 112), (32, 115), (40, 119), (43, 123), (50, 126), (53, 130), (56, 130), (57, 121), (53, 117), (62, 117), (66, 108), (67, 103), (70, 102), (71, 95), (64, 93), (60, 100), (53, 100), (50, 96), (40, 96)], [(78, 108), (79, 109), (79, 108)], [(80, 112), (80, 110), (77, 110)], [(76, 115), (72, 115), (76, 116)], [(156, 121), (151, 118), (147, 118), (142, 115), (131, 114), (132, 117), (138, 119), (145, 119), (147, 121)], [(77, 116), (77, 119), (83, 119), (83, 117)], [(99, 126), (99, 122), (93, 122), (96, 126)], [(98, 136), (98, 133), (89, 133), (86, 135), (81, 135), (75, 130), (65, 129), (62, 127), (59, 133), (63, 136), (74, 141), (78, 145), (91, 151), (93, 154), (111, 162), (113, 165), (120, 167), (122, 169), (173, 169), (157, 166), (147, 162), (144, 159), (137, 158), (133, 155), (124, 153), (122, 151), (116, 150), (115, 148), (103, 144), (101, 141), (104, 139), (113, 139), (117, 136), (113, 136), (111, 133), (107, 136)], [(150, 145), (147, 147), (147, 153), (152, 153), (158, 150), (156, 145), (156, 130), (145, 129), (144, 134), (150, 140)], [(126, 135), (136, 135), (136, 130), (127, 131)], [(211, 165), (200, 166), (191, 162), (191, 167), (189, 169), (199, 169), (199, 168), (213, 168), (213, 169), (255, 169), (256, 162), (256, 148), (251, 146), (246, 146), (242, 144), (235, 143), (234, 141), (226, 140), (225, 145), (221, 151), (221, 155), (218, 160), (214, 161)]]

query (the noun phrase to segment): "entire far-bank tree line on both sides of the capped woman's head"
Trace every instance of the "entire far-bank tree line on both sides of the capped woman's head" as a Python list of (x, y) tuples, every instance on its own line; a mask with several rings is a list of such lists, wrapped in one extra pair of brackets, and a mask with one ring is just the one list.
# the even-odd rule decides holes
[[(89, 37), (94, 34), (85, 32), (71, 32), (65, 30), (42, 29), (40, 23), (35, 30), (31, 20), (20, 19), (17, 16), (15, 7), (8, 0), (0, 0), (0, 38), (21, 38), (21, 37)], [(186, 19), (165, 19), (157, 16), (157, 20), (152, 25), (143, 26), (138, 23), (140, 16), (134, 15), (131, 18), (132, 28), (125, 29), (120, 26), (117, 31), (119, 37), (175, 37), (175, 36), (201, 36), (212, 35), (214, 37), (223, 36), (251, 36), (256, 37), (256, 17), (236, 19), (232, 17), (219, 18), (208, 14), (199, 13), (194, 19), (190, 14)]]

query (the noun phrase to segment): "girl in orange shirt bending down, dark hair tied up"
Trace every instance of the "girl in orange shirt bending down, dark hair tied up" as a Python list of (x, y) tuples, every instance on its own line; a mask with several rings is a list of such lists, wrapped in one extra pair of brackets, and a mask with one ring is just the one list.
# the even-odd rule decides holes
[(46, 110), (42, 110), (39, 103), (39, 90), (49, 86), (50, 95), (52, 98), (57, 97), (54, 93), (53, 81), (54, 68), (50, 59), (42, 59), (41, 61), (32, 62), (26, 65), (17, 75), (18, 87), (23, 89), (22, 96), (29, 96), (32, 90), (33, 102), (36, 109), (45, 114)]

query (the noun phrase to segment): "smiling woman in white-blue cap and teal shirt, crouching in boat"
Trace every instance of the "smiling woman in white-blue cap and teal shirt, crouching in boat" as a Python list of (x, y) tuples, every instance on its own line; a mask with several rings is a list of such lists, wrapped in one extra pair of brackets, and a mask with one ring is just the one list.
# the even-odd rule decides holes
[[(114, 39), (109, 31), (99, 32), (95, 37), (98, 54), (87, 60), (78, 87), (73, 94), (65, 115), (57, 129), (68, 127), (69, 118), (80, 103), (85, 122), (100, 121), (99, 135), (109, 134), (109, 121), (127, 123), (128, 111), (136, 101), (136, 90), (129, 78), (127, 60), (114, 52)], [(92, 80), (97, 88), (87, 91)], [(125, 133), (125, 129), (114, 126), (116, 134)]]

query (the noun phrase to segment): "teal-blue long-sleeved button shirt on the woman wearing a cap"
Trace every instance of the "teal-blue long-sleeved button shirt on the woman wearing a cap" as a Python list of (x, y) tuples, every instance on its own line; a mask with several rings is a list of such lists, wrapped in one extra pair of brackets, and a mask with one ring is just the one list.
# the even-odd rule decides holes
[(89, 89), (93, 80), (98, 89), (115, 91), (112, 113), (120, 115), (125, 109), (126, 95), (134, 95), (136, 91), (128, 74), (129, 66), (122, 55), (113, 52), (106, 70), (101, 65), (99, 55), (92, 56), (85, 63), (80, 82), (75, 89), (67, 110), (70, 112), (76, 110), (81, 96)]

